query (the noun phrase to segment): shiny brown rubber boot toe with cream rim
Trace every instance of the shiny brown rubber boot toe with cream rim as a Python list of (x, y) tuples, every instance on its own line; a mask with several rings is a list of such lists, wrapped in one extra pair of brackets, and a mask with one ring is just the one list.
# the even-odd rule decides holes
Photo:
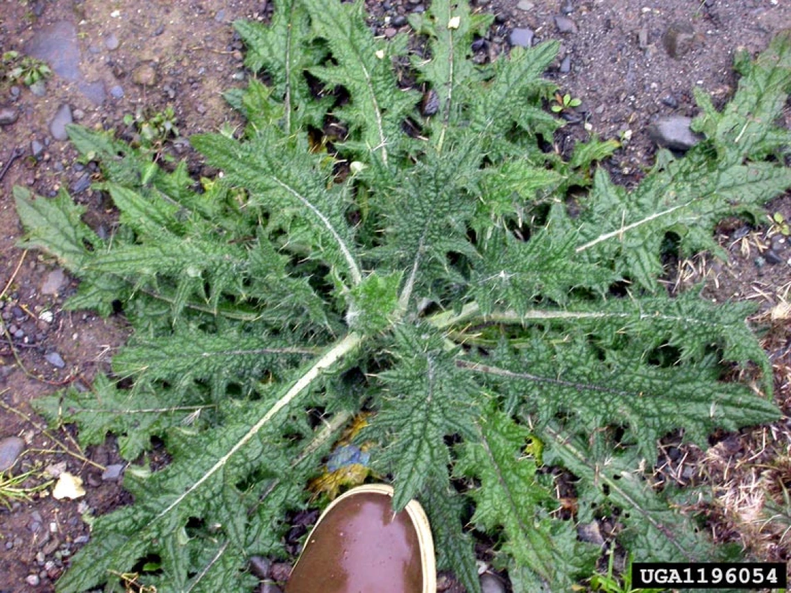
[(370, 484), (334, 500), (308, 535), (286, 593), (434, 593), (426, 514), (417, 500), (394, 514), (392, 494)]

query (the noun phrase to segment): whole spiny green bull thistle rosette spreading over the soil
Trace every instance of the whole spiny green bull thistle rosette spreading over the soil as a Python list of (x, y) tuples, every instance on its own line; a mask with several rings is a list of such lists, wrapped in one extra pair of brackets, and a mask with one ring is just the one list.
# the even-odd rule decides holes
[[(698, 93), (705, 139), (658, 153), (626, 191), (597, 166), (617, 143), (546, 149), (556, 43), (471, 61), (490, 21), (433, 0), (411, 16), (418, 55), (373, 36), (362, 2), (280, 0), (271, 25), (236, 25), (268, 81), (227, 95), (244, 130), (191, 139), (217, 176), (72, 127), (117, 232), (98, 236), (65, 191), (17, 188), (25, 247), (81, 279), (68, 306), (134, 327), (93, 391), (38, 402), (82, 444), (114, 433), (132, 462), (134, 504), (95, 520), (59, 591), (117, 591), (119, 574), (252, 591), (248, 558), (286, 557), (288, 513), (361, 413), (370, 470), (396, 509), (424, 504), (440, 568), (468, 591), (482, 534), (514, 591), (571, 591), (603, 557), (577, 525), (603, 517), (638, 561), (732, 557), (679, 510), (683, 490), (653, 482), (657, 440), (706, 447), (777, 419), (770, 364), (752, 304), (669, 296), (660, 279), (668, 236), (679, 255), (721, 254), (718, 221), (791, 187), (791, 134), (774, 125), (791, 34), (740, 56), (722, 111)], [(436, 93), (435, 113), (405, 79)], [(343, 131), (317, 140), (328, 123)], [(172, 456), (157, 471), (153, 437)]]

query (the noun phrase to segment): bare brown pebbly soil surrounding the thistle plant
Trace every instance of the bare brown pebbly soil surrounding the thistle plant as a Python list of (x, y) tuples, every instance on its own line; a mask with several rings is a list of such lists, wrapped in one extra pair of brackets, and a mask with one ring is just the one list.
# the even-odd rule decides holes
[[(368, 0), (372, 28), (383, 36), (408, 30), (399, 17), (425, 8), (418, 2)], [(529, 4), (478, 0), (476, 9), (494, 13), (496, 20), (476, 44), (475, 59), (483, 62), (508, 51), (513, 28), (530, 28), (533, 43), (560, 40), (561, 54), (547, 77), (583, 104), (576, 121), (554, 138), (555, 149), (568, 153), (574, 142), (591, 133), (619, 139), (623, 148), (605, 166), (627, 186), (638, 183), (653, 162), (656, 148), (647, 130), (654, 119), (695, 115), (694, 87), (713, 95), (715, 104), (724, 104), (736, 85), (731, 69), (736, 49), (755, 55), (775, 32), (791, 27), (791, 3), (785, 0)], [(84, 188), (93, 172), (76, 163), (69, 142), (51, 135), (51, 119), (63, 104), (82, 125), (112, 128), (127, 139), (134, 139), (134, 129), (123, 123), (124, 115), (138, 109), (150, 115), (172, 106), (180, 137), (168, 141), (165, 151), (186, 157), (191, 172), (201, 172), (201, 161), (184, 138), (217, 130), (226, 122), (240, 123), (221, 97), (244, 84), (244, 49), (231, 23), (237, 18), (265, 20), (271, 9), (266, 0), (0, 0), (0, 53), (43, 51), (42, 39), (59, 47), (59, 63), (51, 63), (58, 66), (56, 74), (47, 81), (44, 96), (21, 84), (14, 89), (11, 82), (0, 82), (0, 109), (13, 108), (18, 115), (16, 122), (0, 126), (0, 170), (14, 149), (25, 151), (0, 179), (0, 315), (5, 328), (0, 332), (0, 440), (25, 440), (27, 449), (10, 471), (18, 475), (35, 470), (25, 485), (47, 482), (66, 470), (81, 477), (86, 490), (78, 500), (55, 500), (49, 487), (33, 493), (31, 500), (13, 502), (7, 509), (0, 506), (0, 593), (53, 591), (68, 558), (89, 537), (89, 516), (128, 502), (118, 482), (101, 477), (105, 467), (120, 463), (112, 440), (81, 451), (73, 433), (46, 430), (29, 406), (32, 399), (66, 385), (89, 386), (97, 372), (108, 369), (112, 354), (129, 334), (127, 325), (121, 316), (101, 319), (93, 312), (62, 309), (77, 281), (65, 274), (59, 282), (63, 270), (57, 262), (16, 246), (21, 227), (12, 188), (21, 185), (44, 196), (60, 188), (79, 190), (73, 195), (88, 208), (89, 224), (97, 229), (114, 224), (108, 198)], [(558, 16), (571, 23), (558, 22)], [(676, 47), (666, 40), (668, 28), (687, 32)], [(785, 124), (791, 127), (791, 108), (785, 111)], [(38, 156), (32, 154), (32, 142), (42, 145)], [(727, 261), (701, 255), (668, 262), (668, 285), (680, 289), (705, 281), (705, 294), (712, 300), (758, 304), (755, 323), (765, 332), (776, 397), (787, 414), (791, 248), (770, 224), (776, 212), (791, 219), (791, 195), (770, 203), (761, 220), (721, 225), (718, 237), (729, 252)], [(711, 444), (709, 451), (682, 448), (679, 454), (670, 451), (675, 445), (668, 440), (670, 452), (657, 474), (710, 489), (714, 502), (702, 510), (715, 538), (740, 542), (759, 559), (785, 561), (791, 550), (785, 531), (789, 525), (766, 522), (761, 513), (766, 500), (782, 501), (783, 489), (791, 483), (789, 418), (714, 435)], [(448, 591), (460, 590), (452, 578), (441, 583)]]

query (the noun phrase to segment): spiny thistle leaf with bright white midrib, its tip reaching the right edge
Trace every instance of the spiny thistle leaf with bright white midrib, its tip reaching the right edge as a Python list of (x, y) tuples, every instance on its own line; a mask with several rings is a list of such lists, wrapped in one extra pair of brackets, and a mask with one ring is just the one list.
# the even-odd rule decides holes
[(655, 168), (627, 192), (596, 172), (591, 207), (581, 216), (575, 251), (615, 261), (615, 271), (655, 291), (662, 274), (661, 246), (668, 233), (680, 237), (682, 255), (721, 252), (712, 238), (717, 221), (757, 207), (791, 187), (791, 169), (771, 163), (717, 168), (700, 151)]

